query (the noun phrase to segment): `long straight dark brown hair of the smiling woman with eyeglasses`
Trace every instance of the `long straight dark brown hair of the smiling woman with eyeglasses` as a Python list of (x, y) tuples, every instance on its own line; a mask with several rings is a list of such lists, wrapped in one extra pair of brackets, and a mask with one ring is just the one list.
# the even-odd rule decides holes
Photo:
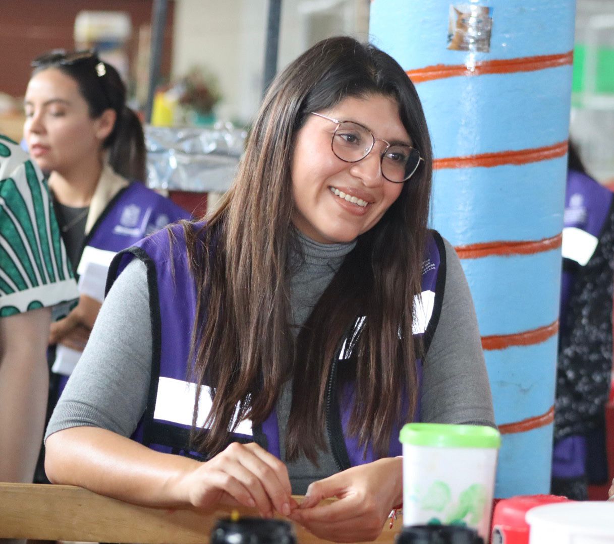
[[(359, 237), (294, 342), (288, 324), (293, 144), (309, 112), (373, 94), (398, 103), (424, 163), (379, 223)], [(324, 396), (338, 343), (357, 317), (367, 316), (346, 373), (356, 392), (349, 431), (361, 445), (370, 441), (377, 454), (386, 454), (393, 424), (411, 419), (416, 403), (419, 346), (411, 323), (413, 297), (421, 292), (431, 173), (418, 94), (391, 56), (336, 37), (314, 45), (276, 77), (232, 188), (204, 232), (185, 225), (198, 286), (193, 372), (215, 391), (204, 426), (211, 428), (197, 432), (202, 450), (222, 449), (240, 419), (262, 423), (292, 377), (287, 457), (303, 451), (314, 461), (325, 447)], [(405, 413), (402, 393), (410, 399)]]

